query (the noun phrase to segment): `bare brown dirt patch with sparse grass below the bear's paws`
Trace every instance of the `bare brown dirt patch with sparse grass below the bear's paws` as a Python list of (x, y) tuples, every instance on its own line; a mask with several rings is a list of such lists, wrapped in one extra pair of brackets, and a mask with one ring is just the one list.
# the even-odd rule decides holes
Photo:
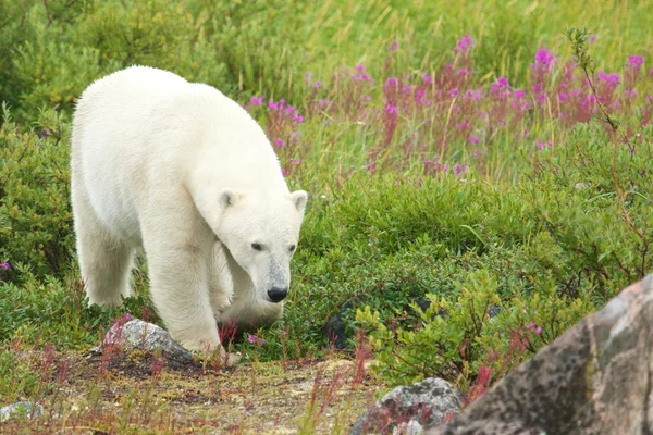
[[(377, 388), (343, 359), (225, 369), (161, 364), (145, 351), (110, 359), (59, 353), (48, 377), (51, 387), (38, 400), (46, 415), (28, 422), (33, 433), (347, 433)], [(0, 424), (1, 433), (25, 428), (25, 422)]]

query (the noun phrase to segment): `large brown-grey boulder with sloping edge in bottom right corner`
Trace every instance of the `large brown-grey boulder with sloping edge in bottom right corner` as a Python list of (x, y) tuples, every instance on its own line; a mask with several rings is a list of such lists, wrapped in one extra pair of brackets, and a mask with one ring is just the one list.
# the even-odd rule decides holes
[(428, 433), (651, 434), (652, 343), (649, 275)]

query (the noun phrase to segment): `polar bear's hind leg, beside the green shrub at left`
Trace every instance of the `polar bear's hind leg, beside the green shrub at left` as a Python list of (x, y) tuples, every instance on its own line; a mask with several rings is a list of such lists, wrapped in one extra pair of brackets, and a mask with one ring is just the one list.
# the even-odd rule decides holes
[(93, 207), (73, 189), (77, 257), (89, 304), (116, 307), (130, 296), (133, 249), (112, 236)]

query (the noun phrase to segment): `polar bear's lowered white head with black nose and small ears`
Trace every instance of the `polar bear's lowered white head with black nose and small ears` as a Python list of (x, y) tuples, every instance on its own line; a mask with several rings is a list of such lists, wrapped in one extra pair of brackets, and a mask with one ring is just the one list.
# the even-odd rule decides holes
[(262, 300), (281, 302), (288, 294), (307, 198), (304, 190), (272, 197), (220, 192), (219, 219), (211, 227)]

